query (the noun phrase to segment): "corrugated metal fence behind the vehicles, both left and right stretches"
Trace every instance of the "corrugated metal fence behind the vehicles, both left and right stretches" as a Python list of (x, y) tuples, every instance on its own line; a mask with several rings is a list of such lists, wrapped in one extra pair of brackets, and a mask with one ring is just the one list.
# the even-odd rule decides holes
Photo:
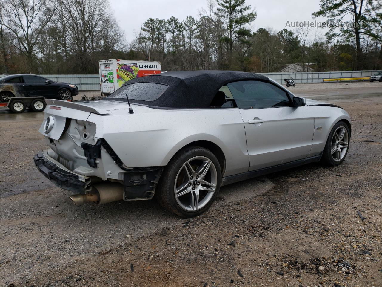
[[(284, 78), (293, 77), (296, 84), (299, 83), (322, 83), (328, 78), (354, 78), (354, 77), (370, 77), (378, 70), (366, 71), (336, 71), (336, 72), (305, 72), (305, 73), (259, 73), (267, 76), (276, 82), (283, 84)], [(0, 75), (3, 77), (5, 75)], [(78, 90), (100, 90), (99, 75), (41, 75), (45, 78), (56, 82), (66, 82), (78, 86)], [(351, 82), (355, 80), (347, 80), (342, 82)], [(358, 81), (358, 80), (357, 80)]]

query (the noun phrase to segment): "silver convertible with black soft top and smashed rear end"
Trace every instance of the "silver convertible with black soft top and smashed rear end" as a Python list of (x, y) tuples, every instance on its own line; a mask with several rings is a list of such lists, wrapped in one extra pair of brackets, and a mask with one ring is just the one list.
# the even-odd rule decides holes
[(84, 202), (156, 197), (182, 217), (221, 186), (322, 161), (342, 163), (350, 117), (268, 77), (178, 71), (139, 77), (100, 101), (46, 100), (38, 170)]

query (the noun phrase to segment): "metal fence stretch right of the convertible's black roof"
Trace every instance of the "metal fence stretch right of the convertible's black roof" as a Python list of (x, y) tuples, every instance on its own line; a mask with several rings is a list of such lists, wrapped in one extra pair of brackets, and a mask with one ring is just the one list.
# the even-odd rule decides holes
[[(304, 73), (259, 73), (267, 76), (276, 82), (283, 84), (284, 78), (293, 77), (295, 83), (322, 83), (324, 79), (329, 78), (355, 78), (355, 77), (370, 77), (376, 72), (376, 70), (367, 71), (335, 71), (335, 72), (304, 72)], [(343, 80), (341, 82), (351, 82), (359, 80)], [(362, 81), (362, 80), (361, 80)], [(367, 80), (366, 80), (367, 81)]]

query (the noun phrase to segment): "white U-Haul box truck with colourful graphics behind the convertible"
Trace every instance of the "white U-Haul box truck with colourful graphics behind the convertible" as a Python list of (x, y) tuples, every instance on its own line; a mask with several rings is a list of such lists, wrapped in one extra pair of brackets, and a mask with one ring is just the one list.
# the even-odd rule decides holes
[(154, 61), (102, 60), (98, 62), (101, 95), (110, 95), (136, 77), (160, 74), (162, 65)]

